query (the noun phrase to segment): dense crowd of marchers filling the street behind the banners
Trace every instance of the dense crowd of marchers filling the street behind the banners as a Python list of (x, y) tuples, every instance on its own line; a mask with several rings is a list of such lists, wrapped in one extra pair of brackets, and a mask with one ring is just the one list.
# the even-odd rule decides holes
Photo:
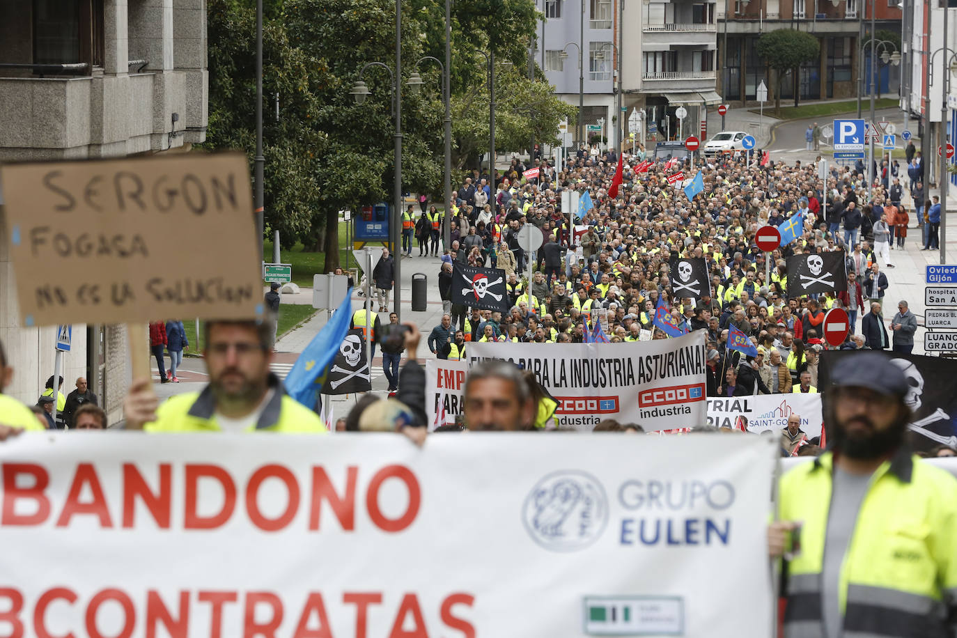
[[(460, 358), (468, 341), (586, 341), (595, 321), (612, 342), (664, 339), (655, 324), (659, 299), (682, 329), (707, 331), (713, 395), (816, 391), (818, 355), (829, 347), (821, 324), (833, 307), (851, 318), (841, 348), (893, 346), (909, 352), (913, 347), (917, 323), (906, 301), (898, 303), (889, 322), (892, 334), (883, 317), (888, 282), (881, 269), (893, 268), (894, 238), (902, 248), (911, 219), (901, 201), (897, 166), (876, 167), (879, 180), (869, 196), (860, 163), (829, 165), (825, 186), (817, 163), (784, 165), (760, 152), (750, 162), (745, 155), (725, 155), (699, 164), (704, 188), (689, 200), (682, 182), (668, 184), (669, 176), (682, 171), (685, 181), (693, 177), (687, 160), (648, 163), (628, 153), (623, 160), (616, 197), (609, 195), (617, 167), (611, 151), (594, 157), (581, 149), (557, 166), (539, 161), (540, 178), (530, 181), (522, 176), (526, 166), (513, 160), (494, 189), (480, 174), (464, 180), (450, 204), (452, 242), (438, 275), (447, 316), (430, 334), (436, 356)], [(916, 177), (912, 192), (919, 196), (923, 187)], [(592, 207), (563, 209), (567, 190), (587, 192)], [(923, 213), (934, 205), (915, 211), (922, 228), (933, 230)], [(766, 265), (755, 232), (780, 226), (798, 212), (803, 232), (770, 253)], [(530, 255), (519, 246), (524, 224), (545, 237)], [(787, 257), (841, 250), (847, 292), (788, 297)], [(669, 263), (674, 257), (706, 260), (708, 294), (674, 295)], [(524, 275), (528, 259), (530, 281)], [(456, 261), (504, 270), (507, 312), (453, 304)], [(728, 349), (731, 326), (749, 337), (757, 356)]]

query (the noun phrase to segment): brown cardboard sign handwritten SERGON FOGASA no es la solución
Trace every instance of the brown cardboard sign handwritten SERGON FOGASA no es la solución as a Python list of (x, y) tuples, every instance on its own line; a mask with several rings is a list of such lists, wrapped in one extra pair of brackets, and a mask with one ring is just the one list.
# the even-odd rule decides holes
[(24, 325), (244, 319), (262, 304), (239, 153), (4, 165)]

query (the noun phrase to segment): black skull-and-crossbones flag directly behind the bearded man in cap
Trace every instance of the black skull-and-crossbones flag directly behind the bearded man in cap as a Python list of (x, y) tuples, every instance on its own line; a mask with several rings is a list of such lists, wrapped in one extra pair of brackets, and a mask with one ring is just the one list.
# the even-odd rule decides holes
[[(817, 372), (818, 389), (827, 392), (834, 366), (844, 357), (856, 357), (859, 350), (825, 350)], [(957, 446), (957, 398), (953, 380), (957, 377), (957, 362), (943, 357), (888, 353), (890, 363), (901, 368), (907, 378), (904, 403), (910, 407), (907, 441), (917, 451), (930, 451), (939, 445)], [(824, 410), (827, 414), (827, 409)], [(831, 430), (828, 430), (831, 438)]]

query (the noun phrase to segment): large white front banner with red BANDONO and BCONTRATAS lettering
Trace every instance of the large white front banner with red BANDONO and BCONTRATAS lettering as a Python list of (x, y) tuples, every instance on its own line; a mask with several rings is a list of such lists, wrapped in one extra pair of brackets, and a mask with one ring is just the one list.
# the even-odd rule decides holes
[(0, 627), (768, 636), (768, 439), (24, 434), (0, 446)]

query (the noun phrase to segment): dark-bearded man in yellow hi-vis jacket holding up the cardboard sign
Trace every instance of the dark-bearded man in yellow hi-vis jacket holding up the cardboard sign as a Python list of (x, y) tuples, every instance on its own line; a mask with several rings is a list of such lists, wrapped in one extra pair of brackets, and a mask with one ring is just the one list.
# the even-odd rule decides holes
[(285, 393), (269, 365), (269, 323), (207, 321), (203, 342), (210, 383), (159, 406), (148, 378), (130, 385), (123, 402), (126, 429), (155, 432), (325, 432), (322, 419)]

